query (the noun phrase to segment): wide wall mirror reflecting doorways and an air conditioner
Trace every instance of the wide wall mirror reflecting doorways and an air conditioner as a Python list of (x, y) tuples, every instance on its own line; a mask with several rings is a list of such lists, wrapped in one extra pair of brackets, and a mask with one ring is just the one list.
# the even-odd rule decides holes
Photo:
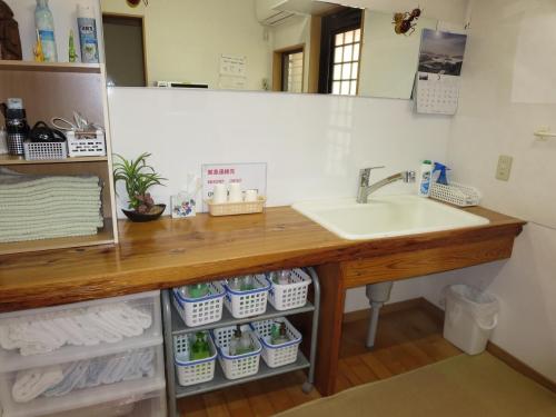
[(463, 29), (468, 1), (102, 0), (109, 83), (409, 99), (420, 31)]

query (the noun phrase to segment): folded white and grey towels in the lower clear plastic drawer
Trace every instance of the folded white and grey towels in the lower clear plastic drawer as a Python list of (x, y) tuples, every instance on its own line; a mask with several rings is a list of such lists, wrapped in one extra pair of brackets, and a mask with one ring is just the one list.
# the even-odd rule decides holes
[(11, 395), (16, 403), (28, 403), (39, 396), (61, 397), (75, 389), (98, 387), (155, 375), (155, 349), (78, 360), (64, 365), (18, 373)]

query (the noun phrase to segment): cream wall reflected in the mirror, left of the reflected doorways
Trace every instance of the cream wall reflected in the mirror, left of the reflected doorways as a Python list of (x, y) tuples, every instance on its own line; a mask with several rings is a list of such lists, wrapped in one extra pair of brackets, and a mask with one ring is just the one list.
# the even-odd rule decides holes
[(219, 88), (220, 56), (247, 57), (248, 90), (260, 90), (270, 73), (269, 43), (254, 0), (157, 0), (130, 8), (102, 0), (102, 10), (145, 17), (147, 76)]

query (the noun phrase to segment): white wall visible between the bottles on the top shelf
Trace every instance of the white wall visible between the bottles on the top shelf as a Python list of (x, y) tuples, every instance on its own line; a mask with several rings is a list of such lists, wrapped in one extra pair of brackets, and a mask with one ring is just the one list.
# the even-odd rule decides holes
[[(23, 60), (32, 61), (33, 47), (37, 41), (34, 32), (34, 8), (37, 7), (36, 0), (4, 0), (6, 3), (13, 11), (13, 17), (19, 23), (19, 33), (21, 37), (21, 47), (23, 50)], [(122, 0), (123, 1), (123, 0)], [(79, 44), (79, 31), (77, 26), (77, 4), (90, 6), (97, 16), (97, 29), (99, 31), (99, 40), (101, 39), (102, 28), (100, 27), (100, 6), (99, 0), (50, 0), (49, 8), (54, 18), (54, 34), (58, 49), (58, 60), (60, 62), (69, 61), (68, 42), (69, 31), (73, 29), (76, 51), (81, 59), (81, 48)], [(99, 42), (101, 43), (101, 42)], [(102, 46), (99, 46), (102, 51)], [(103, 59), (101, 53), (101, 61)]]

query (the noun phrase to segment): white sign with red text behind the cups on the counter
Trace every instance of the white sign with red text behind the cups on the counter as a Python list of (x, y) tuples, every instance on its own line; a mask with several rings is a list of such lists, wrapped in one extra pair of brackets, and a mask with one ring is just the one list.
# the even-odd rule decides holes
[(206, 200), (212, 198), (215, 185), (240, 183), (241, 189), (256, 189), (267, 196), (267, 163), (205, 163), (202, 165), (202, 210), (208, 211)]

